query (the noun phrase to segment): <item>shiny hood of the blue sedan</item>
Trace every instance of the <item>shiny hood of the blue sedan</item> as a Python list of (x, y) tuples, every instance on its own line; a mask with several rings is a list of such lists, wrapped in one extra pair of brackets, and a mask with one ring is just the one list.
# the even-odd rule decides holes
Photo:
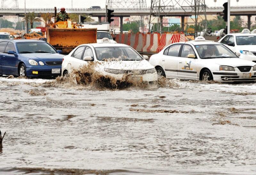
[(35, 61), (62, 61), (62, 58), (64, 57), (64, 55), (61, 55), (59, 53), (23, 53), (20, 55)]

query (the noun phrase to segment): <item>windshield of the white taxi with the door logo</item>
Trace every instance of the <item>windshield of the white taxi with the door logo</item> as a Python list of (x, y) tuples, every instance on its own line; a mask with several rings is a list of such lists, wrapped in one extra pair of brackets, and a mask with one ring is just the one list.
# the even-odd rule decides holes
[(222, 44), (195, 45), (195, 48), (201, 59), (238, 58), (235, 53)]

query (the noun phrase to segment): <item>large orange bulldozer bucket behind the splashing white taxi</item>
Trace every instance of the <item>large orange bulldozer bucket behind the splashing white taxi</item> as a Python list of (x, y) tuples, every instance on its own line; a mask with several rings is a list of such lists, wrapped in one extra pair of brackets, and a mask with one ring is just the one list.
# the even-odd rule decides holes
[(97, 43), (97, 28), (48, 28), (47, 42), (68, 54), (80, 44)]

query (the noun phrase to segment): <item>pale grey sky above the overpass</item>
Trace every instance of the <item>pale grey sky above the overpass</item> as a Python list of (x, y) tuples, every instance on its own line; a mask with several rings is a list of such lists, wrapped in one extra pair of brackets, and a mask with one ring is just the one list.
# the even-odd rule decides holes
[[(24, 0), (18, 0), (19, 7), (24, 8)], [(150, 0), (146, 0), (147, 5), (150, 5)], [(215, 6), (213, 0), (205, 0), (208, 6)], [(227, 2), (227, 0), (217, 0), (216, 6), (222, 6), (223, 3)], [(89, 8), (90, 6), (100, 6), (102, 8), (105, 7), (106, 0), (73, 0), (73, 8)], [(256, 0), (239, 0), (237, 3), (236, 0), (231, 0), (231, 6), (246, 6), (250, 5), (256, 6)], [(26, 0), (27, 8), (53, 8), (56, 7), (71, 7), (71, 0)]]

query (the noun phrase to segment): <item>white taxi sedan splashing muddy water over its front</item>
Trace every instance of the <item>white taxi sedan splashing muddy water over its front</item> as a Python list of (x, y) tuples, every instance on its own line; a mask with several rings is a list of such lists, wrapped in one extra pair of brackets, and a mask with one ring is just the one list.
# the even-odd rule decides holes
[[(106, 41), (106, 38), (103, 38)], [(148, 63), (148, 56), (141, 56), (125, 44), (95, 43), (77, 46), (62, 62), (62, 75), (72, 73), (89, 62), (95, 62), (94, 70), (103, 76), (122, 80), (124, 75), (149, 85), (157, 83), (156, 69)]]

